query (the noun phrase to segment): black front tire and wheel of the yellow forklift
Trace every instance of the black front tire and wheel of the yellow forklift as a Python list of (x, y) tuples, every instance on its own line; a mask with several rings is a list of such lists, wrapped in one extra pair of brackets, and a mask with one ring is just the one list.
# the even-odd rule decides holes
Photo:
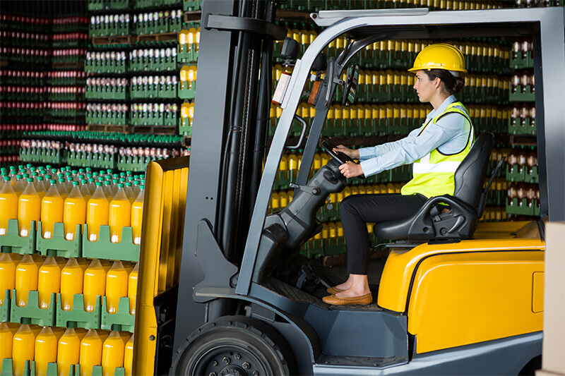
[(285, 339), (260, 320), (225, 316), (191, 334), (177, 351), (171, 375), (292, 375)]

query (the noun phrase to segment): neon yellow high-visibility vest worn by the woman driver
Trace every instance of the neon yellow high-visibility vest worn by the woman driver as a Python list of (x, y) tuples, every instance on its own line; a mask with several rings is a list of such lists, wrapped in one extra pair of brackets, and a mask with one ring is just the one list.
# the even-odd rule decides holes
[(465, 130), (468, 130), (467, 144), (456, 154), (443, 154), (438, 148), (412, 164), (412, 180), (403, 186), (400, 192), (403, 195), (421, 193), (427, 198), (439, 195), (453, 195), (455, 192), (455, 171), (475, 142), (475, 133), (467, 109), (461, 102), (453, 102), (444, 112), (427, 121), (420, 134), (430, 123), (436, 123), (442, 116), (451, 113), (461, 114), (465, 118)]

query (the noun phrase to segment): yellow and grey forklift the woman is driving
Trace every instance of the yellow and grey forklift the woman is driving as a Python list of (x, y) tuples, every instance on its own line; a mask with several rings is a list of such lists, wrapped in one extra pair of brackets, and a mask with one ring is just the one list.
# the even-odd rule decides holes
[[(133, 373), (533, 374), (542, 354), (545, 222), (565, 219), (564, 8), (311, 13), (323, 31), (302, 59), (285, 41), (281, 58), (294, 68), (277, 90), (283, 113), (268, 138), (273, 40), (287, 35), (275, 8), (203, 1), (191, 156), (147, 168)], [(324, 56), (342, 35), (346, 46)], [(337, 87), (344, 102), (355, 100), (358, 66), (348, 62), (380, 40), (458, 37), (533, 38), (543, 220), (477, 223), (485, 178), (496, 174), (487, 171), (493, 141), (484, 133), (456, 172), (454, 195), (375, 227), (393, 243), (382, 274), (369, 275), (380, 279), (374, 303), (327, 305), (326, 287), (340, 281), (299, 249), (320, 231), (316, 212), (328, 195), (347, 184), (338, 170), (347, 157), (320, 136)], [(308, 80), (316, 87), (310, 125), (297, 115)], [(289, 138), (295, 122), (299, 140)], [(321, 141), (332, 159), (311, 176)], [(281, 156), (299, 147), (293, 199), (268, 214)], [(438, 202), (451, 211), (434, 210)]]

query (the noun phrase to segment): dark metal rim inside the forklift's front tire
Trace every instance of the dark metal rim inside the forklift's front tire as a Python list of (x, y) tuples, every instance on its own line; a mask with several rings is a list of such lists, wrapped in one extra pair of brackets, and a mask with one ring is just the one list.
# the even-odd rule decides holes
[(249, 348), (235, 344), (212, 346), (194, 362), (191, 375), (266, 376), (270, 367), (266, 360)]

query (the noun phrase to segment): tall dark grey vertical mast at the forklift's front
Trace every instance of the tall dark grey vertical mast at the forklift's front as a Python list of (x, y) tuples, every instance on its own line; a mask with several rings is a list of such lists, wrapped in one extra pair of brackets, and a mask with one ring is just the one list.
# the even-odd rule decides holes
[(193, 300), (205, 277), (210, 286), (237, 272), (219, 262), (215, 275), (203, 276), (196, 253), (220, 249), (241, 263), (266, 147), (273, 38), (286, 36), (274, 17), (273, 1), (203, 1), (174, 348), (231, 302)]

